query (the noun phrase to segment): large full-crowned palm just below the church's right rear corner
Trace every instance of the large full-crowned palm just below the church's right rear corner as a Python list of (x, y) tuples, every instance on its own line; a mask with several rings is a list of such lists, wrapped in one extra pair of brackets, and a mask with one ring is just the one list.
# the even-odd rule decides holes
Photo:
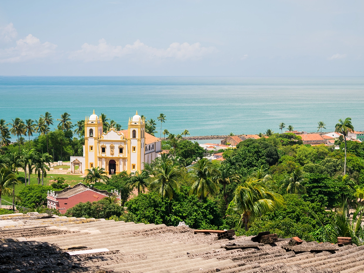
[(159, 187), (159, 195), (162, 198), (173, 198), (173, 189), (179, 190), (179, 179), (181, 179), (181, 169), (174, 164), (173, 160), (165, 156), (158, 160), (153, 170), (155, 180), (150, 183), (152, 189)]

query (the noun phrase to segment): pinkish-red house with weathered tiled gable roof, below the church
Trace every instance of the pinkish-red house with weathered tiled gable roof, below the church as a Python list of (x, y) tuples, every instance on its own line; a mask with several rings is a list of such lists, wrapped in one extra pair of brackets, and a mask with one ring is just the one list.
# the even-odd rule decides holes
[[(68, 187), (61, 191), (51, 191), (47, 193), (47, 207), (50, 209), (58, 209), (60, 213), (65, 213), (67, 209), (74, 205), (87, 201), (99, 201), (104, 197), (108, 197), (114, 193), (108, 193), (107, 190), (98, 190), (93, 187), (79, 183), (74, 187)], [(120, 200), (118, 191), (115, 193), (116, 199)]]

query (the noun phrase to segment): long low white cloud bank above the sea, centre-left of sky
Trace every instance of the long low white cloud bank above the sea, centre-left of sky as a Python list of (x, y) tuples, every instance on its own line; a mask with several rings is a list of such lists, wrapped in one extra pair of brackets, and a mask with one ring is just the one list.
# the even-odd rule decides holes
[(100, 39), (98, 45), (84, 43), (81, 50), (71, 52), (70, 59), (79, 59), (84, 62), (108, 61), (115, 58), (122, 58), (126, 55), (137, 55), (143, 58), (166, 59), (174, 58), (178, 60), (201, 59), (202, 56), (216, 51), (215, 47), (201, 47), (200, 43), (172, 43), (167, 49), (159, 49), (147, 46), (137, 40), (133, 44), (125, 47), (112, 46), (106, 43), (105, 39)]

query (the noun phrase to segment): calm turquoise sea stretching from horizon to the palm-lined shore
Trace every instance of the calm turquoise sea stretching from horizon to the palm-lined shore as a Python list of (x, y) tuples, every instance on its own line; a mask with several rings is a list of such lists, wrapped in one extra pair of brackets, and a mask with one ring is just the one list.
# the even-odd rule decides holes
[(191, 136), (280, 132), (281, 122), (317, 131), (323, 121), (324, 131), (332, 131), (347, 117), (364, 130), (364, 77), (0, 76), (0, 102), (7, 122), (46, 111), (55, 119), (68, 112), (76, 122), (95, 109), (123, 128), (136, 111), (154, 120), (163, 113), (162, 131), (187, 129)]

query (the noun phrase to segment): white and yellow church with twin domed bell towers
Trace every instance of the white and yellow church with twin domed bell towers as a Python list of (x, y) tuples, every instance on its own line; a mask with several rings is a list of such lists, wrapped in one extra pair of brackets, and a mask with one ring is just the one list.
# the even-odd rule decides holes
[[(129, 118), (128, 129), (103, 132), (101, 116), (85, 118), (83, 157), (71, 157), (71, 173), (102, 167), (108, 174), (141, 171), (161, 151), (161, 139), (145, 132), (145, 120), (137, 113)], [(78, 167), (77, 167), (78, 166)]]

